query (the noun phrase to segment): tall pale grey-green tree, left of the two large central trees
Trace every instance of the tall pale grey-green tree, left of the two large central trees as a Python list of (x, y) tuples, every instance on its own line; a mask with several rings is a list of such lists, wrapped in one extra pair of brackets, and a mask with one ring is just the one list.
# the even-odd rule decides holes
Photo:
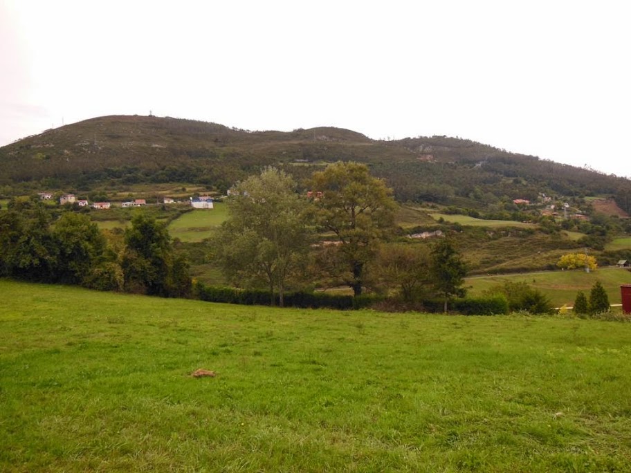
[(229, 218), (214, 239), (214, 257), (235, 284), (264, 284), (275, 303), (309, 249), (307, 201), (284, 171), (268, 167), (232, 188)]

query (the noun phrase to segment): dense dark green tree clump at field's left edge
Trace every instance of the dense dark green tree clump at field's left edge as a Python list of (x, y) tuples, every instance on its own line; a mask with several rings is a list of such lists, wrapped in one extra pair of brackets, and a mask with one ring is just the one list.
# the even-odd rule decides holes
[(53, 213), (36, 199), (13, 199), (0, 214), (0, 276), (163, 297), (192, 288), (164, 223), (138, 214), (106, 237), (89, 216)]

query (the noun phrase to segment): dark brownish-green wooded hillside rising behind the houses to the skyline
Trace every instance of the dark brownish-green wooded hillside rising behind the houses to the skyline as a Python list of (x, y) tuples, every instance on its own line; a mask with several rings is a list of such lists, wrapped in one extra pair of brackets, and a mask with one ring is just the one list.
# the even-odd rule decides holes
[(338, 160), (369, 165), (399, 201), (482, 209), (540, 194), (604, 195), (631, 212), (631, 180), (470, 140), (371, 140), (335, 128), (245, 131), (136, 115), (93, 118), (1, 147), (0, 194), (135, 183), (194, 183), (225, 192), (266, 165), (300, 182)]

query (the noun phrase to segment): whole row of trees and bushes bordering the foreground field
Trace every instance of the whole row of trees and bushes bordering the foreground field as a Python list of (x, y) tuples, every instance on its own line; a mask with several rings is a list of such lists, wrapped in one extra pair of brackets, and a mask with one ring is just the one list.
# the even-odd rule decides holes
[[(366, 165), (333, 163), (301, 184), (309, 192), (298, 192), (285, 171), (266, 167), (232, 187), (229, 218), (210, 240), (210, 259), (233, 288), (264, 290), (268, 303), (280, 306), (288, 291), (290, 304), (311, 304), (322, 299), (305, 296), (316, 286), (347, 286), (356, 299), (368, 290), (390, 306), (549, 310), (549, 301), (529, 288), (496, 288), (484, 295), (488, 300), (458, 302), (466, 296), (467, 267), (455, 243), (403, 238), (392, 189)], [(166, 224), (147, 214), (134, 216), (124, 232), (102, 232), (89, 216), (51, 212), (35, 198), (13, 199), (0, 214), (0, 275), (162, 297), (203, 292), (207, 300), (213, 294), (261, 300), (261, 293), (246, 297), (193, 284)]]

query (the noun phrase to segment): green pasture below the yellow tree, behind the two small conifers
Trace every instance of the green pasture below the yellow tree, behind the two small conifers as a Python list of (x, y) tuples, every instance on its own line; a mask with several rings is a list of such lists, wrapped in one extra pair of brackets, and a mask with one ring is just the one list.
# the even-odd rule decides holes
[(469, 295), (481, 295), (484, 290), (504, 284), (504, 281), (526, 282), (550, 297), (556, 307), (573, 306), (579, 290), (589, 297), (589, 290), (594, 283), (601, 281), (610, 304), (621, 304), (620, 285), (631, 284), (631, 272), (622, 268), (598, 268), (589, 273), (585, 270), (571, 270), (470, 277), (466, 280), (466, 286), (469, 286)]

